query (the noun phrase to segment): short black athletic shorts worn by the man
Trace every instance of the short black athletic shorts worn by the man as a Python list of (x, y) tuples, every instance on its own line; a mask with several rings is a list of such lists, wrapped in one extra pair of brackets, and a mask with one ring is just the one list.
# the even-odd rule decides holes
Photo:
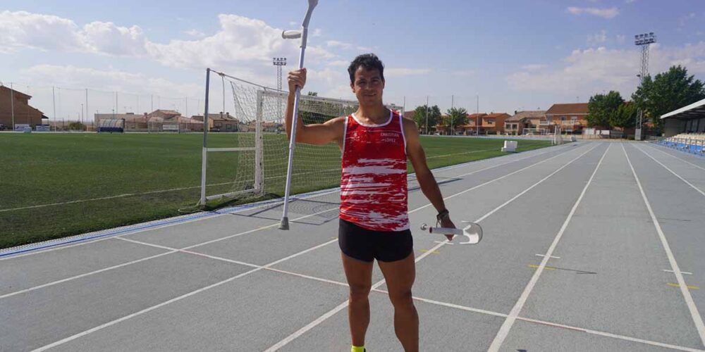
[(413, 251), (411, 230), (373, 231), (340, 219), (338, 245), (350, 258), (372, 262), (402, 260)]

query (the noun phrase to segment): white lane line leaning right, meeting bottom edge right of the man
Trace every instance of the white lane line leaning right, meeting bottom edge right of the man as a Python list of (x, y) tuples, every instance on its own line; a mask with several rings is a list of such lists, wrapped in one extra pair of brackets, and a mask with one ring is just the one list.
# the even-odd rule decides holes
[(514, 307), (509, 312), (508, 317), (502, 323), (502, 326), (499, 328), (499, 331), (494, 337), (492, 344), (489, 346), (488, 351), (499, 351), (500, 346), (502, 346), (502, 343), (507, 338), (509, 330), (512, 328), (512, 325), (514, 325), (514, 322), (517, 319), (517, 316), (519, 316), (519, 313), (521, 312), (522, 308), (524, 308), (524, 303), (526, 303), (527, 298), (529, 298), (529, 294), (531, 294), (531, 291), (534, 289), (534, 285), (536, 285), (536, 283), (539, 281), (539, 276), (541, 276), (541, 272), (544, 272), (544, 268), (546, 268), (546, 263), (548, 263), (548, 259), (551, 257), (551, 254), (553, 254), (553, 251), (556, 249), (556, 246), (558, 246), (558, 241), (560, 241), (560, 237), (563, 237), (563, 233), (565, 232), (565, 229), (568, 228), (568, 223), (570, 223), (570, 219), (572, 219), (573, 214), (575, 214), (575, 210), (577, 210), (577, 207), (580, 205), (580, 201), (582, 201), (583, 196), (585, 196), (587, 188), (590, 187), (590, 184), (592, 183), (592, 180), (594, 179), (597, 170), (599, 170), (600, 165), (602, 165), (602, 161), (605, 159), (605, 156), (607, 155), (607, 152), (610, 150), (611, 147), (612, 144), (609, 144), (605, 152), (602, 154), (602, 158), (600, 158), (600, 161), (599, 163), (597, 163), (595, 170), (592, 172), (592, 175), (590, 176), (589, 180), (587, 180), (587, 184), (585, 184), (585, 187), (583, 187), (582, 192), (580, 192), (580, 196), (578, 197), (577, 201), (575, 201), (575, 204), (573, 204), (572, 209), (570, 209), (568, 218), (565, 218), (563, 226), (560, 227), (558, 234), (556, 234), (556, 238), (553, 239), (553, 243), (551, 243), (551, 246), (548, 247), (548, 251), (546, 251), (546, 256), (544, 257), (544, 259), (541, 260), (539, 268), (534, 271), (534, 275), (532, 275), (531, 279), (529, 280), (529, 283), (524, 288), (524, 291), (519, 297), (519, 300), (517, 301), (517, 303), (515, 303)]

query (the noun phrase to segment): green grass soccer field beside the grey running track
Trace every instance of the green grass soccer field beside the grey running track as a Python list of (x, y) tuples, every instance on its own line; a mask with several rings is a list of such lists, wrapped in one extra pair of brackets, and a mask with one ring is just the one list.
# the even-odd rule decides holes
[[(209, 136), (214, 147), (243, 138)], [(265, 139), (273, 145), (264, 156), (265, 198), (272, 198), (283, 194), (287, 142), (283, 134)], [(502, 142), (422, 137), (431, 168), (501, 156)], [(519, 150), (548, 145), (521, 140)], [(201, 146), (202, 134), (0, 134), (0, 248), (180, 215), (200, 197)], [(298, 146), (295, 156), (294, 193), (339, 185), (337, 146)], [(232, 190), (235, 176), (252, 179), (237, 168), (240, 158), (209, 153), (209, 194)]]

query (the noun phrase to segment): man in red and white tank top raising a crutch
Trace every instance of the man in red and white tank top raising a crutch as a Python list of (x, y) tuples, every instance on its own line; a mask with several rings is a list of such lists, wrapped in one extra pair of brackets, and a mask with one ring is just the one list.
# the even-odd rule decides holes
[[(369, 325), (367, 296), (372, 288), (372, 265), (376, 259), (394, 306), (396, 336), (405, 351), (415, 352), (419, 351), (419, 317), (411, 293), (416, 270), (407, 214), (407, 158), (414, 166), (424, 195), (438, 210), (441, 225), (455, 225), (426, 164), (416, 123), (382, 103), (385, 84), (382, 62), (374, 54), (360, 55), (350, 63), (348, 73), (350, 88), (360, 102), (357, 111), (322, 124), (304, 125), (298, 120), (296, 142), (337, 142), (343, 152), (338, 244), (350, 285), (351, 351), (365, 351), (364, 335)], [(286, 108), (289, 138), (295, 91), (305, 83), (305, 68), (289, 73)]]

